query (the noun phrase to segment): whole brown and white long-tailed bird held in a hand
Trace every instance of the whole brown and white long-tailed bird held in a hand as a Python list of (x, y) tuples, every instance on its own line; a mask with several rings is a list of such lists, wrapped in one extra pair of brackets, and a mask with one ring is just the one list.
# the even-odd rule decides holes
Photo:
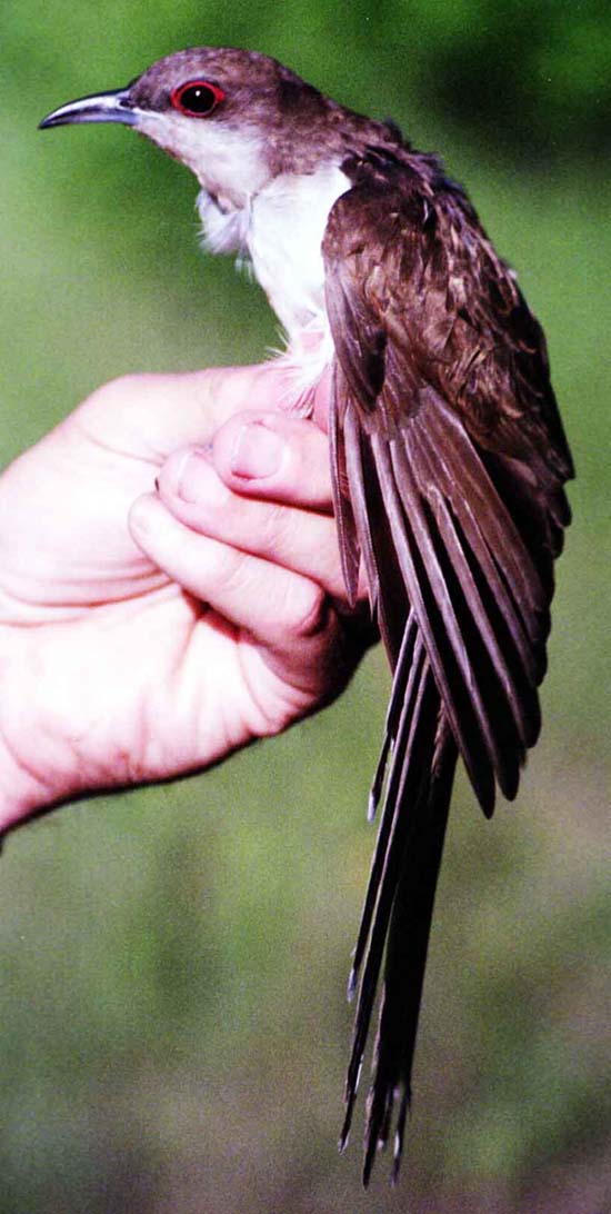
[(393, 676), (339, 1146), (377, 1005), (362, 1180), (392, 1142), (394, 1182), (457, 760), (490, 817), (541, 727), (575, 475), (546, 339), (438, 155), (269, 56), (178, 51), (40, 126), (78, 123), (132, 126), (192, 170), (205, 246), (251, 263), (282, 327), (286, 407), (307, 416), (330, 385), (347, 596), (364, 575)]

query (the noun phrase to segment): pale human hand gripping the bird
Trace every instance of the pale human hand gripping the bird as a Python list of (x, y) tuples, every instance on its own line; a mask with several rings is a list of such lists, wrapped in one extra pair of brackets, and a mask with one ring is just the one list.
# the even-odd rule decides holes
[(205, 768), (346, 686), (365, 601), (326, 435), (281, 388), (273, 364), (129, 376), (0, 477), (0, 832)]

